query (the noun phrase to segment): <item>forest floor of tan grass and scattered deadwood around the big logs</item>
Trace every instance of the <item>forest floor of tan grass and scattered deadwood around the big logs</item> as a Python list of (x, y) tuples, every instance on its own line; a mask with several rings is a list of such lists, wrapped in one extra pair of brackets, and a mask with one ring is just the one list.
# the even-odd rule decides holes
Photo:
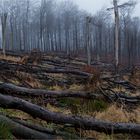
[[(7, 84), (7, 85), (6, 85)], [(100, 98), (59, 97), (44, 98), (16, 94), (10, 86), (27, 89), (43, 89), (55, 93), (91, 93)], [(4, 88), (6, 85), (9, 90)], [(12, 87), (11, 86), (11, 87)], [(11, 91), (11, 93), (10, 93)], [(19, 92), (19, 91), (18, 91)], [(22, 91), (24, 92), (24, 90)], [(0, 56), (0, 93), (12, 95), (43, 107), (51, 112), (70, 116), (89, 117), (111, 123), (140, 124), (140, 68), (114, 74), (112, 65), (94, 63), (87, 66), (85, 60), (65, 55), (44, 54), (41, 58), (30, 56)], [(86, 96), (85, 96), (86, 97)], [(0, 98), (1, 102), (1, 98)], [(0, 112), (8, 118), (16, 118), (56, 132), (57, 139), (140, 139), (131, 133), (99, 132), (55, 124), (16, 108), (0, 105)], [(13, 134), (13, 133), (12, 133)], [(15, 134), (13, 134), (15, 136)], [(14, 137), (18, 138), (18, 137)]]

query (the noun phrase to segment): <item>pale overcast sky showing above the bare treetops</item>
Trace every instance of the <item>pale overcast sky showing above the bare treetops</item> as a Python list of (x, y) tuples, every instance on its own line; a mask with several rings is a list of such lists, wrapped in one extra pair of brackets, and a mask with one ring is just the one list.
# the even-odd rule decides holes
[[(74, 3), (79, 5), (80, 9), (84, 9), (90, 13), (95, 13), (100, 10), (102, 7), (112, 6), (112, 0), (72, 0)], [(127, 2), (128, 0), (119, 0), (119, 4)], [(134, 14), (140, 17), (140, 0), (138, 2)]]

